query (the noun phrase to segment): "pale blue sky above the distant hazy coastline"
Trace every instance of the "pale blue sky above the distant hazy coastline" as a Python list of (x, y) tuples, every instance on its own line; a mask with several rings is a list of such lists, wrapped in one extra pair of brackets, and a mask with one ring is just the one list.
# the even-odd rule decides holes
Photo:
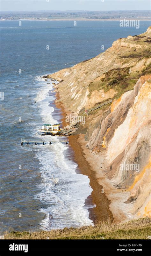
[(1, 0), (1, 11), (150, 10), (150, 0)]

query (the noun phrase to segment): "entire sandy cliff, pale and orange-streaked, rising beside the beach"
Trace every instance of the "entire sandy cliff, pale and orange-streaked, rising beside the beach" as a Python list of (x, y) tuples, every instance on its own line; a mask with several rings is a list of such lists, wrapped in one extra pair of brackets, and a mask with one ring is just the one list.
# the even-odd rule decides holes
[[(115, 220), (151, 217), (151, 28), (120, 38), (97, 57), (48, 77), (73, 115), (92, 110), (77, 124), (85, 158), (111, 201)], [(88, 154), (90, 153), (90, 154)]]

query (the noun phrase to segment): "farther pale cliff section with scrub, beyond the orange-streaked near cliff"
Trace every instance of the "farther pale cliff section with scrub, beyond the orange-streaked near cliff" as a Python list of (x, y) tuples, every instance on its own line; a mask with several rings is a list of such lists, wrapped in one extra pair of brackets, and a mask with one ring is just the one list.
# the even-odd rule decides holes
[(58, 88), (66, 107), (77, 114), (133, 90), (140, 76), (149, 74), (150, 31), (118, 39), (97, 57), (50, 75), (61, 81)]

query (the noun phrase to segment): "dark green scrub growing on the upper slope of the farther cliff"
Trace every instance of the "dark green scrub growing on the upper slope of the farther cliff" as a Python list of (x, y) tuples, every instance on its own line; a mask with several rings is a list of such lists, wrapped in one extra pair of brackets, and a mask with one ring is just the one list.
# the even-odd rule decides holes
[[(104, 92), (107, 92), (110, 89), (114, 89), (114, 91), (117, 92), (115, 95), (116, 98), (119, 98), (124, 92), (133, 90), (133, 87), (140, 76), (151, 73), (151, 65), (146, 66), (145, 64), (145, 68), (143, 70), (130, 72), (130, 68), (133, 69), (133, 61), (137, 63), (143, 59), (150, 58), (150, 39), (151, 38), (149, 36), (133, 36), (133, 40), (130, 41), (130, 44), (133, 47), (125, 47), (125, 51), (121, 51), (119, 54), (119, 59), (122, 59), (123, 62), (122, 64), (127, 64), (129, 67), (110, 69), (104, 73), (103, 76), (97, 77), (93, 82), (89, 84), (90, 93), (88, 97), (90, 98), (91, 93), (94, 90), (99, 91), (104, 89)], [(139, 47), (136, 45), (139, 45)]]

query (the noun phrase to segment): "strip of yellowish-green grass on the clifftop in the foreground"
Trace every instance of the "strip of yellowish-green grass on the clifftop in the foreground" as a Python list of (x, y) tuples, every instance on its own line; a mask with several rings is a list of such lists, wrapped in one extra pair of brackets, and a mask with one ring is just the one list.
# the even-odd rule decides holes
[(98, 222), (95, 226), (64, 228), (37, 232), (6, 232), (4, 239), (147, 239), (151, 233), (151, 220), (142, 218), (125, 223), (111, 220)]

